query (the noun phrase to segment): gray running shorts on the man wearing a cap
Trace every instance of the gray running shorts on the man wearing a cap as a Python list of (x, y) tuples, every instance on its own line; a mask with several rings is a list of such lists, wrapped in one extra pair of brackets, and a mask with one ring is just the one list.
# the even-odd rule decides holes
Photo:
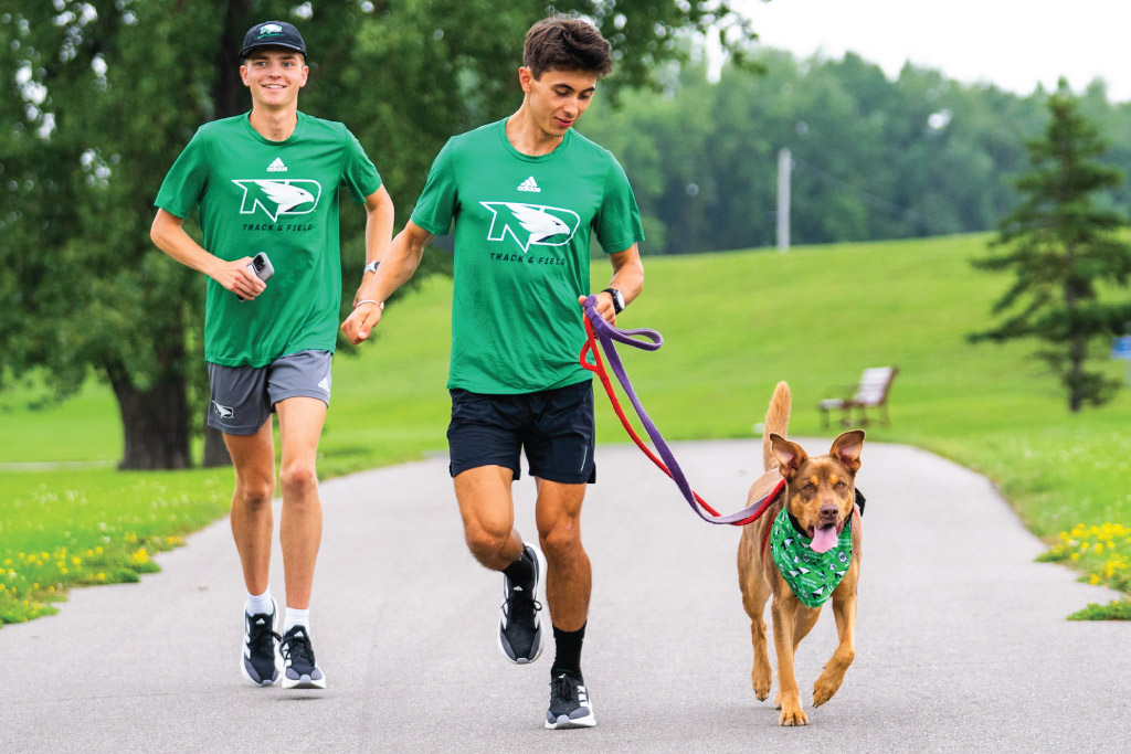
[(208, 426), (226, 434), (256, 434), (285, 398), (304, 396), (330, 405), (328, 350), (300, 350), (267, 366), (208, 364)]

